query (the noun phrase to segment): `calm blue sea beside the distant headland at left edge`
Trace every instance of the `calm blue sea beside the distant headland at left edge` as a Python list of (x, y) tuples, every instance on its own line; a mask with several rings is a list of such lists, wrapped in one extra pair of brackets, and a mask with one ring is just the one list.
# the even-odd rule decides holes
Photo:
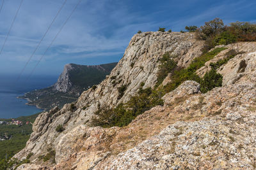
[(18, 75), (15, 74), (0, 74), (0, 118), (17, 118), (42, 112), (36, 106), (26, 105), (28, 101), (25, 99), (17, 97), (53, 85), (58, 76), (38, 75), (28, 80), (27, 76), (22, 76), (19, 81), (17, 78)]

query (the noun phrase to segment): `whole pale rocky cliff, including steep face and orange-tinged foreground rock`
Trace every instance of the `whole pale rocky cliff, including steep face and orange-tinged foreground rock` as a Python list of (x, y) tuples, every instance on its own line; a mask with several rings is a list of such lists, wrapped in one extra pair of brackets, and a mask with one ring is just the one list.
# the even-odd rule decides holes
[[(236, 50), (217, 70), (223, 87), (202, 94), (198, 83), (185, 81), (163, 97), (164, 106), (125, 127), (91, 126), (98, 110), (128, 101), (142, 82), (143, 88), (154, 87), (165, 52), (177, 56), (179, 67), (188, 67), (203, 45), (188, 32), (134, 35), (102, 83), (83, 92), (76, 103), (36, 118), (26, 148), (15, 155), (23, 159), (30, 153), (31, 164), (18, 169), (254, 169), (256, 43), (227, 45), (196, 71), (203, 76), (211, 62)], [(56, 131), (58, 125), (63, 132)], [(47, 155), (53, 157), (44, 159)]]

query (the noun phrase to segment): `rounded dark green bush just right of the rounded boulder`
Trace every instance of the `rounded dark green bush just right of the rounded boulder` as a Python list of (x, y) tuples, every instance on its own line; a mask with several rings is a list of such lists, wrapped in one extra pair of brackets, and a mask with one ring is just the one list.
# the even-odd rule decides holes
[(221, 74), (217, 73), (215, 69), (211, 69), (211, 71), (205, 73), (203, 80), (200, 82), (201, 92), (205, 93), (215, 87), (221, 87), (222, 78)]

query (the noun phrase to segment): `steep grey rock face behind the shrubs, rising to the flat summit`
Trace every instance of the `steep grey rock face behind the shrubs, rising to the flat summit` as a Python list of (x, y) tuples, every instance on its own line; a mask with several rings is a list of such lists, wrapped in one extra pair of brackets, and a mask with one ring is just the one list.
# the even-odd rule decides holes
[[(64, 158), (59, 157), (57, 151), (60, 141), (65, 140), (65, 134), (73, 131), (79, 125), (90, 125), (93, 114), (104, 106), (116, 106), (127, 101), (136, 94), (140, 83), (144, 87), (154, 87), (157, 80), (158, 60), (165, 52), (177, 55), (180, 66), (187, 66), (189, 61), (200, 55), (204, 43), (195, 39), (195, 34), (180, 32), (144, 32), (136, 34), (125, 50), (124, 57), (118, 62), (111, 74), (96, 89), (83, 92), (78, 101), (65, 106), (55, 113), (43, 113), (33, 125), (33, 134), (26, 148), (16, 155), (19, 159), (33, 153), (32, 162), (40, 162), (38, 157), (47, 154), (47, 150), (56, 150), (56, 162)], [(122, 96), (118, 89), (126, 87)], [(52, 115), (54, 114), (54, 115)], [(52, 115), (52, 116), (50, 116)], [(56, 132), (56, 127), (63, 125), (65, 131)], [(78, 134), (77, 134), (78, 135)], [(76, 138), (74, 138), (76, 139)], [(70, 150), (71, 151), (71, 150)], [(69, 154), (67, 153), (66, 157)]]

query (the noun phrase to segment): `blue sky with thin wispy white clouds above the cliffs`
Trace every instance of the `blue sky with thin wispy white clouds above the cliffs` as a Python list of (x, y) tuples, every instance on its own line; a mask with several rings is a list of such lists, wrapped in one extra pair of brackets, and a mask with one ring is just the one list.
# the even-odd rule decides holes
[[(0, 55), (0, 74), (20, 74), (65, 0), (24, 0)], [(79, 0), (67, 0), (24, 71), (36, 62)], [(0, 0), (0, 4), (3, 0)], [(5, 0), (0, 12), (0, 48), (20, 0)], [(58, 75), (68, 63), (96, 65), (118, 62), (136, 32), (165, 27), (184, 30), (216, 17), (230, 22), (256, 22), (255, 0), (82, 0), (45, 53), (33, 74)]]

